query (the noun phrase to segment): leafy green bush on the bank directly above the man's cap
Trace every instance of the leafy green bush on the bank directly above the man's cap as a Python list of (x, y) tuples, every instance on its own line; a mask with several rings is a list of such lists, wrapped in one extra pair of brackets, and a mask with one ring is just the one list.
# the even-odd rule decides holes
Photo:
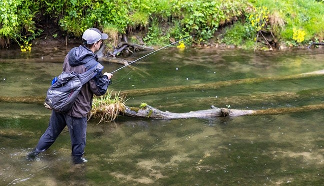
[[(41, 0), (46, 14), (58, 20), (62, 30), (80, 36), (89, 27), (115, 25), (124, 33), (129, 23), (127, 0)], [(61, 11), (63, 9), (63, 11)]]

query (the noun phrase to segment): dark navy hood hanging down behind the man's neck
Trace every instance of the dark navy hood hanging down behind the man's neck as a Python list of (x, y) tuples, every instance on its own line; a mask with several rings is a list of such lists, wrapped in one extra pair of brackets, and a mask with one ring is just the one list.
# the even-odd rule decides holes
[(96, 55), (90, 49), (82, 45), (74, 47), (68, 52), (68, 63), (70, 66), (78, 66), (96, 58)]

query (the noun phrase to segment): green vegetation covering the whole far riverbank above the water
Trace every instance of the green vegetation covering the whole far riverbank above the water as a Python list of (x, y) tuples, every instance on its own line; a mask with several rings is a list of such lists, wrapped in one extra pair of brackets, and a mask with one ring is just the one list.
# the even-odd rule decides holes
[(185, 42), (293, 47), (324, 40), (323, 14), (323, 0), (3, 0), (0, 45), (30, 50), (49, 17), (68, 36), (80, 37), (88, 27), (111, 33), (110, 45), (140, 31), (149, 45), (194, 35)]

